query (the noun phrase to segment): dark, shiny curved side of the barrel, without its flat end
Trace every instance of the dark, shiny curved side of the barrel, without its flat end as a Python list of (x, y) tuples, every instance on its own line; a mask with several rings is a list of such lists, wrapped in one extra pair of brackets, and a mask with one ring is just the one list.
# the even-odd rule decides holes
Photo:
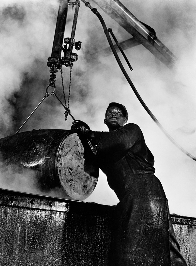
[(59, 143), (69, 132), (42, 129), (0, 139), (1, 165), (4, 167), (2, 174), (8, 179), (15, 173), (24, 175), (24, 178), (30, 176), (43, 191), (62, 188), (56, 176), (55, 155)]

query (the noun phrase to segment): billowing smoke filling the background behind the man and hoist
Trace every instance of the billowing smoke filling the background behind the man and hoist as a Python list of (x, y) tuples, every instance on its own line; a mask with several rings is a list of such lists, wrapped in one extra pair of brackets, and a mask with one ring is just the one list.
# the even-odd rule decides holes
[[(195, 107), (195, 1), (126, 1), (124, 4), (140, 21), (156, 30), (158, 39), (178, 58), (175, 70), (169, 70), (143, 46), (125, 51), (134, 69), (130, 77), (159, 122), (185, 150), (196, 156)], [(118, 41), (131, 36), (98, 8), (107, 27)], [(73, 13), (69, 7), (65, 37), (71, 33)], [(73, 10), (74, 11), (74, 10)], [(1, 2), (1, 138), (13, 135), (43, 99), (49, 79), (47, 58), (51, 55), (58, 1), (9, 0)], [(93, 130), (106, 131), (104, 114), (109, 102), (124, 104), (128, 122), (138, 124), (155, 157), (156, 176), (163, 184), (170, 213), (196, 216), (196, 162), (179, 151), (160, 131), (129, 87), (112, 55), (100, 56), (108, 47), (97, 17), (81, 2), (76, 41), (82, 42), (79, 59), (74, 63), (70, 109), (75, 119), (84, 120)], [(95, 56), (90, 54), (97, 52)], [(63, 67), (66, 96), (69, 68)], [(60, 71), (56, 93), (63, 101)], [(33, 128), (69, 129), (64, 109), (53, 96), (40, 105), (25, 124)], [(101, 174), (97, 187), (87, 201), (114, 205), (118, 202)]]

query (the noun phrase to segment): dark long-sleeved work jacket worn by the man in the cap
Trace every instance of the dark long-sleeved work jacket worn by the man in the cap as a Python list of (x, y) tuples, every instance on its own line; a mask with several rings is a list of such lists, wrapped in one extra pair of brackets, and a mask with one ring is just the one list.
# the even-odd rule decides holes
[(152, 175), (154, 157), (145, 144), (141, 129), (127, 124), (116, 131), (95, 132), (100, 168), (119, 200), (135, 176)]

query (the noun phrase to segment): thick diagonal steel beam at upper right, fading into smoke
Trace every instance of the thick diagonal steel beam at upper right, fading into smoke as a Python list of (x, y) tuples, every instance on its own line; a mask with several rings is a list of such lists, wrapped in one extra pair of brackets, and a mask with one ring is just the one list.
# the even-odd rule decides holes
[(93, 0), (103, 11), (146, 47), (163, 64), (172, 68), (177, 58), (119, 0)]

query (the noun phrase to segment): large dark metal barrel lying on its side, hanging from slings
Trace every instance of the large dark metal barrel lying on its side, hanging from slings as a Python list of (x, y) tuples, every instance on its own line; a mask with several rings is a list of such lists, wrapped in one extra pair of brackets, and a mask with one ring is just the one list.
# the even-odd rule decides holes
[(5, 178), (10, 168), (25, 175), (29, 169), (41, 191), (60, 189), (74, 200), (84, 200), (96, 186), (99, 167), (92, 149), (86, 138), (70, 130), (40, 129), (0, 139)]

